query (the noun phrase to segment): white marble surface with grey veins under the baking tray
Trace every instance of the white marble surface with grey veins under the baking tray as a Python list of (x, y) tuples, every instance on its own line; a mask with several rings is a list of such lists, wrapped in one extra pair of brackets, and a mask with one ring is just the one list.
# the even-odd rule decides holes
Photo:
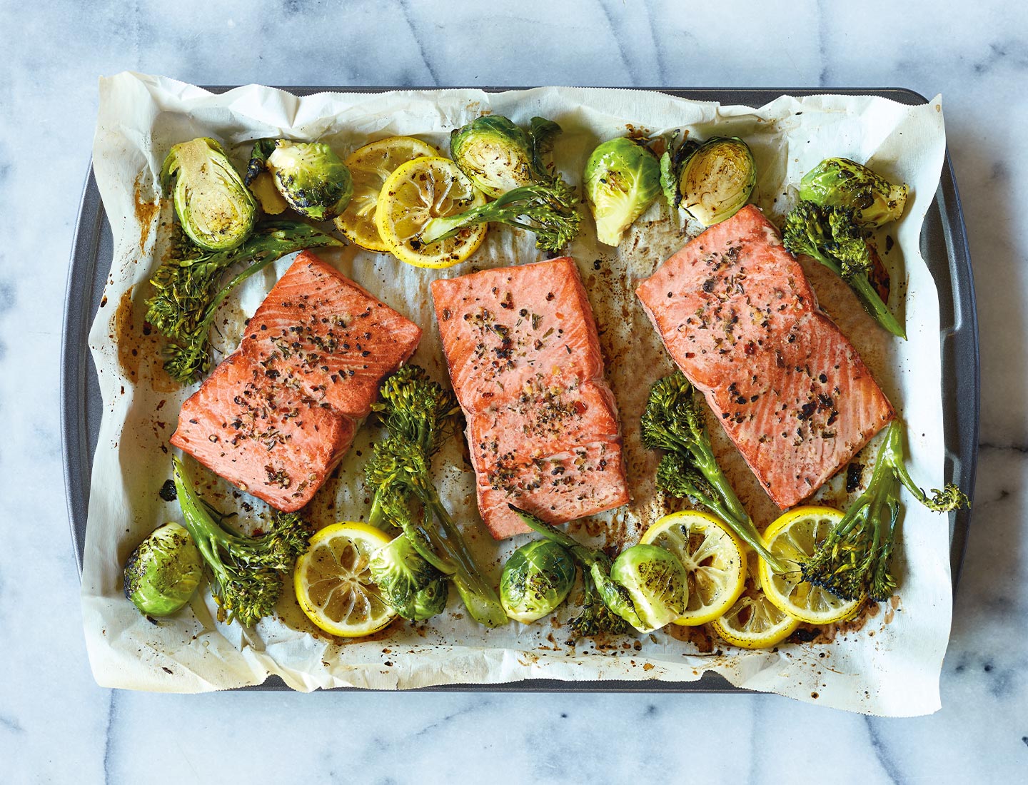
[[(866, 783), (1024, 781), (1028, 9), (1001, 0), (731, 5), (0, 0), (0, 782), (613, 783), (700, 772), (710, 782), (811, 773)], [(979, 484), (942, 711), (873, 719), (774, 696), (182, 697), (97, 687), (68, 538), (58, 358), (97, 77), (122, 69), (199, 84), (941, 91), (983, 359)]]

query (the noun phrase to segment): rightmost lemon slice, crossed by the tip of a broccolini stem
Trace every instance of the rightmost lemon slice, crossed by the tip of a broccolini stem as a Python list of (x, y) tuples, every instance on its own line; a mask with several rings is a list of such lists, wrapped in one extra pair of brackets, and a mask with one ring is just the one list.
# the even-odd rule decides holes
[(761, 585), (768, 599), (791, 616), (809, 624), (832, 624), (851, 619), (864, 598), (842, 600), (819, 586), (803, 580), (800, 564), (839, 525), (843, 514), (831, 507), (798, 507), (780, 516), (764, 532), (764, 540), (775, 556), (795, 567), (788, 572), (772, 572), (761, 562)]

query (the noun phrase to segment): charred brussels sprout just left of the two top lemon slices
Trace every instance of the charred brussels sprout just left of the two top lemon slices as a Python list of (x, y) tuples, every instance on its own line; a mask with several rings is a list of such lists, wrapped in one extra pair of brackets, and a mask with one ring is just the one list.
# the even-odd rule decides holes
[[(267, 140), (254, 145), (248, 177), (260, 165), (260, 156), (266, 150)], [(266, 165), (289, 205), (315, 221), (335, 218), (354, 195), (350, 169), (328, 145), (279, 139), (267, 153)]]

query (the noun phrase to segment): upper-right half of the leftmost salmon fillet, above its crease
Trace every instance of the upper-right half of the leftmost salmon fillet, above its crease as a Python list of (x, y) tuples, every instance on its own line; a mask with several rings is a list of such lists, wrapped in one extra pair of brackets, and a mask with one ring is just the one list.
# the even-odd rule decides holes
[(242, 348), (281, 382), (360, 419), (420, 339), (417, 325), (304, 252), (250, 319)]

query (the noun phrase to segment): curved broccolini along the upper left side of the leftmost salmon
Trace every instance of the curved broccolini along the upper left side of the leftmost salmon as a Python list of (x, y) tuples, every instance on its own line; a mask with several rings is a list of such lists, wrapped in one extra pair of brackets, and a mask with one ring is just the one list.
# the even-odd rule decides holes
[[(170, 257), (150, 284), (146, 321), (175, 343), (168, 347), (164, 369), (183, 384), (211, 368), (211, 325), (218, 306), (235, 287), (274, 260), (306, 248), (341, 246), (335, 237), (297, 221), (268, 221), (231, 251), (205, 252), (178, 235)], [(237, 262), (250, 264), (219, 289), (224, 273)]]

